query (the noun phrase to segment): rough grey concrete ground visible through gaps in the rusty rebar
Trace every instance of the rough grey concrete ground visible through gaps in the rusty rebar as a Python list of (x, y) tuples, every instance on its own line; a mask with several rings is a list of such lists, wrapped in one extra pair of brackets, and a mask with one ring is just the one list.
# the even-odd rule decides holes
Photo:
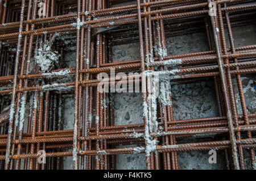
[[(256, 26), (243, 28), (233, 28), (234, 40), (237, 46), (250, 45), (256, 43)], [(201, 52), (208, 50), (205, 33), (194, 33), (170, 37), (167, 41), (167, 53), (182, 54), (191, 52)], [(228, 42), (227, 42), (228, 44)], [(229, 44), (228, 44), (229, 47)], [(67, 54), (66, 60), (69, 66), (73, 66), (75, 60), (73, 52)], [(113, 61), (126, 61), (139, 59), (138, 43), (115, 45), (112, 47)], [(237, 98), (238, 112), (242, 113), (240, 100), (238, 99), (238, 89), (233, 78), (234, 94)], [(255, 113), (255, 75), (246, 75), (242, 78), (243, 91), (245, 93), (247, 111)], [(200, 83), (190, 83), (187, 85), (172, 85), (172, 103), (174, 107), (175, 120), (194, 119), (199, 117), (213, 117), (218, 115), (216, 105), (216, 95), (212, 81)], [(143, 123), (142, 120), (142, 96), (134, 93), (112, 94), (115, 104), (114, 122), (115, 125)], [(129, 115), (128, 115), (129, 114)], [(64, 129), (73, 128), (73, 99), (64, 100)], [(214, 140), (214, 134), (209, 135), (208, 141)], [(179, 141), (178, 143), (188, 140)], [(199, 141), (197, 138), (190, 142)], [(123, 147), (120, 145), (117, 148)], [(126, 145), (136, 146), (136, 145)], [(208, 163), (208, 151), (187, 151), (178, 153), (180, 169), (226, 169), (224, 152), (217, 151), (217, 163)], [(245, 151), (246, 167), (251, 169), (248, 151)], [(145, 157), (142, 154), (117, 155), (117, 169), (146, 169)], [(64, 158), (64, 169), (72, 168), (72, 158)]]

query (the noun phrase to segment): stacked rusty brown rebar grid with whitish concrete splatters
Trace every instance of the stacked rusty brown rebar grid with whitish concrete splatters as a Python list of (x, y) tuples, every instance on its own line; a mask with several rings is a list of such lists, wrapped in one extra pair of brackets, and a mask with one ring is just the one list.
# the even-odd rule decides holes
[[(216, 3), (215, 16), (209, 16), (211, 2)], [(236, 47), (232, 33), (234, 26), (255, 23), (255, 1), (137, 0), (134, 5), (121, 7), (111, 7), (112, 3), (115, 1), (47, 0), (46, 14), (40, 16), (38, 1), (0, 2), (0, 94), (1, 116), (5, 116), (0, 129), (1, 169), (20, 169), (21, 165), (23, 169), (61, 169), (63, 157), (73, 158), (73, 169), (115, 169), (115, 155), (141, 153), (146, 156), (147, 169), (176, 170), (177, 152), (211, 149), (225, 150), (228, 169), (246, 169), (245, 148), (250, 150), (255, 169), (256, 113), (247, 113), (241, 75), (256, 72), (256, 45)], [(230, 48), (226, 46), (225, 29)], [(202, 31), (207, 35), (208, 51), (167, 56), (154, 49), (166, 50), (167, 36)], [(36, 65), (31, 67), (34, 50), (59, 35), (75, 37), (75, 66), (65, 68), (60, 62), (48, 74)], [(139, 41), (139, 60), (112, 62), (113, 45), (134, 41)], [(64, 47), (61, 51), (68, 47), (62, 43), (55, 44)], [(6, 44), (16, 49), (7, 48)], [(148, 55), (154, 61), (148, 60)], [(167, 61), (175, 64), (177, 59), (180, 61), (175, 69), (166, 66)], [(154, 112), (148, 99), (150, 81), (143, 74), (156, 67), (169, 70), (170, 82), (212, 78), (219, 115), (174, 120), (172, 105), (161, 102)], [(110, 73), (111, 69), (116, 73), (139, 71), (139, 82), (146, 90), (142, 92), (146, 109), (143, 124), (115, 125), (113, 103), (102, 105), (110, 94), (97, 90), (97, 74)], [(60, 71), (65, 73), (59, 74)], [(242, 115), (237, 111), (232, 77), (238, 85)], [(58, 79), (62, 82), (53, 83)], [(122, 78), (112, 79), (117, 83)], [(61, 105), (68, 95), (75, 97), (74, 129), (62, 130)], [(25, 112), (20, 110), (29, 98), (32, 103), (24, 118)], [(10, 99), (7, 113), (3, 99)], [(163, 130), (155, 127), (156, 123)], [(221, 140), (176, 143), (177, 139), (195, 134), (207, 137), (208, 133), (219, 133)], [(144, 146), (115, 147), (121, 144)], [(72, 151), (65, 151), (68, 149)], [(37, 162), (39, 150), (46, 150), (46, 164)]]

